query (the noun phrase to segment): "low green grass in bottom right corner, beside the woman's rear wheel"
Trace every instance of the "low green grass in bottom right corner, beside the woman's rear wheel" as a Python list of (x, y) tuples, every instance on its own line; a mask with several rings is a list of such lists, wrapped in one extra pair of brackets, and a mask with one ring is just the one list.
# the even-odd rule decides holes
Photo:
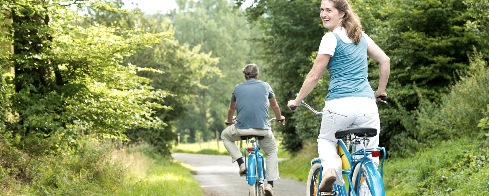
[(489, 196), (488, 139), (461, 138), (387, 161), (387, 196)]

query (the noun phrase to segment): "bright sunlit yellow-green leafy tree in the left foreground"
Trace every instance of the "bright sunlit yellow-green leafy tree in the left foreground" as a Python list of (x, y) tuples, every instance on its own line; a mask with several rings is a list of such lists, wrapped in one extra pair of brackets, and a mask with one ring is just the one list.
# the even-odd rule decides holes
[[(9, 121), (2, 119), (8, 130), (1, 132), (6, 144), (33, 153), (75, 150), (83, 145), (82, 138), (125, 139), (127, 129), (165, 126), (152, 115), (169, 107), (148, 99), (161, 102), (170, 94), (137, 75), (160, 71), (123, 60), (169, 33), (77, 26), (72, 22), (78, 15), (70, 5), (83, 3), (78, 0), (0, 3), (0, 18), (13, 20), (11, 25), (2, 23), (12, 32), (3, 33), (2, 41), (13, 41), (14, 53), (2, 55), (1, 65), (15, 67), (15, 75), (5, 80), (5, 87), (12, 89), (6, 106), (13, 115)], [(91, 5), (105, 6), (97, 1)]]

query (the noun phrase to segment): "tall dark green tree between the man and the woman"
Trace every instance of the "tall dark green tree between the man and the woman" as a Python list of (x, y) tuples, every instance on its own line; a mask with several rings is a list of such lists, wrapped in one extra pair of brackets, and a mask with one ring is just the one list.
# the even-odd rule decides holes
[[(280, 131), (283, 145), (289, 151), (299, 150), (303, 140), (317, 137), (318, 118), (300, 111), (302, 116), (290, 112), (286, 104), (299, 91), (312, 67), (311, 56), (315, 56), (313, 52), (324, 35), (319, 6), (320, 0), (263, 0), (246, 10), (248, 19), (258, 22), (264, 30), (256, 41), (263, 51), (260, 57), (267, 64), (265, 71), (273, 78), (271, 85), (280, 97), (282, 113), (288, 117)], [(314, 108), (321, 106), (320, 99), (324, 101), (325, 94), (320, 94), (324, 85), (324, 81), (320, 82), (306, 100)]]

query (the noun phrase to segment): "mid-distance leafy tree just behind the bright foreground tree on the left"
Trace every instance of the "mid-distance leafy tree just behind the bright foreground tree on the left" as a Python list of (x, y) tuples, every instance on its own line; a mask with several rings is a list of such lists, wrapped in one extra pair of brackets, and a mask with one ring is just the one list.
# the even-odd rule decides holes
[(139, 72), (138, 75), (152, 79), (152, 87), (165, 89), (174, 95), (167, 97), (164, 103), (155, 100), (172, 107), (171, 110), (155, 109), (153, 114), (167, 123), (166, 127), (129, 129), (127, 135), (132, 142), (146, 142), (155, 146), (156, 150), (168, 153), (167, 150), (171, 147), (169, 141), (176, 137), (176, 121), (189, 112), (188, 107), (193, 105), (192, 97), (195, 97), (200, 89), (207, 88), (201, 84), (201, 78), (220, 74), (220, 70), (214, 66), (218, 59), (211, 58), (210, 54), (200, 53), (200, 46), (189, 48), (187, 45), (178, 44), (173, 37), (174, 29), (168, 17), (160, 13), (147, 15), (138, 9), (134, 12), (121, 10), (124, 6), (121, 0), (111, 0), (110, 4), (110, 8), (104, 9), (92, 6), (83, 8), (90, 16), (84, 22), (105, 24), (119, 30), (140, 28), (146, 32), (170, 34), (165, 38), (165, 42), (152, 48), (137, 50), (125, 59), (125, 62), (134, 65), (161, 70), (161, 73)]

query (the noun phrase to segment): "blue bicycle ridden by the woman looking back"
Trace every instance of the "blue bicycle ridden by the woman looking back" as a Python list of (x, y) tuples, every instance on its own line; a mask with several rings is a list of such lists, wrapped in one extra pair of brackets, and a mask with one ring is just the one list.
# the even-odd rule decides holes
[[(380, 98), (387, 103), (387, 97), (381, 96)], [(301, 101), (301, 105), (318, 116), (323, 115), (322, 112), (312, 109), (304, 101)], [(294, 110), (295, 107), (291, 109)], [(368, 138), (375, 135), (377, 135), (377, 130), (374, 128), (355, 127), (336, 131), (334, 136), (338, 139), (337, 153), (341, 157), (343, 165), (342, 174), (346, 174), (348, 178), (348, 193), (344, 185), (337, 184), (333, 184), (334, 191), (332, 192), (319, 192), (323, 167), (321, 167), (321, 159), (314, 158), (311, 160), (306, 195), (385, 196), (384, 183), (382, 181), (384, 159), (381, 160), (379, 167), (378, 163), (371, 158), (379, 157), (381, 154), (385, 155), (385, 148), (366, 148), (369, 143)], [(363, 148), (361, 147), (362, 145)], [(358, 146), (361, 148), (357, 150)]]

